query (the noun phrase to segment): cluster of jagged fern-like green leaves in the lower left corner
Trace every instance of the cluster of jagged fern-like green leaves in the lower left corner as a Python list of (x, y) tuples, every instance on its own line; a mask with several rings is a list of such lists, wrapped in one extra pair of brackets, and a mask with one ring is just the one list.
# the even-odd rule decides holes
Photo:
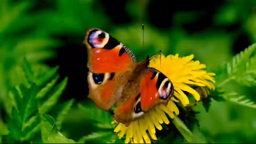
[[(23, 60), (22, 73), (26, 75), (25, 78), (27, 81), (26, 84), (23, 82), (19, 86), (13, 87), (10, 91), (9, 96), (12, 103), (12, 109), (11, 117), (7, 117), (6, 119), (9, 133), (3, 139), (4, 142), (42, 142), (42, 140), (38, 140), (38, 136), (36, 136), (40, 130), (43, 129), (42, 121), (44, 121), (43, 124), (46, 123), (45, 119), (42, 119), (41, 115), (51, 110), (67, 84), (67, 78), (57, 84), (59, 75), (56, 74), (56, 68), (48, 70), (48, 72), (49, 73), (45, 73), (45, 71), (34, 71), (30, 63), (26, 59)], [(40, 73), (44, 73), (44, 75), (41, 75)], [(40, 86), (37, 85), (36, 82), (39, 82), (38, 84)], [(55, 84), (57, 85), (55, 86)], [(58, 113), (59, 126), (61, 125), (64, 116), (67, 114), (67, 111), (70, 109), (73, 101), (74, 100), (69, 101), (67, 105), (63, 106), (60, 113)], [(48, 119), (46, 118), (47, 122), (52, 125), (50, 129), (51, 132), (46, 135), (48, 139), (47, 142), (74, 142), (73, 140), (68, 140), (64, 137), (58, 131), (54, 119), (49, 117), (51, 116), (48, 116)], [(53, 122), (51, 122), (51, 119), (53, 119)], [(49, 138), (51, 139), (50, 141)]]

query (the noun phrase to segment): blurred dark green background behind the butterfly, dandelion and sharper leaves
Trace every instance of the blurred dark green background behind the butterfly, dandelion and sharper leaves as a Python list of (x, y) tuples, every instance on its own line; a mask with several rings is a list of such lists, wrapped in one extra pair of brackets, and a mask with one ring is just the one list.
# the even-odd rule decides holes
[[(142, 48), (142, 28), (145, 37)], [(41, 0), (0, 2), (0, 96), (5, 116), (10, 87), (20, 82), (16, 66), (26, 57), (34, 67), (59, 66), (68, 84), (62, 102), (75, 104), (62, 125), (62, 133), (78, 140), (94, 130), (90, 115), (77, 107), (95, 107), (87, 99), (87, 52), (82, 41), (86, 29), (100, 28), (131, 49), (139, 60), (163, 50), (165, 55), (195, 55), (210, 72), (256, 41), (256, 1), (103, 1)], [(256, 101), (255, 86), (230, 84)], [(256, 110), (212, 100), (207, 113), (195, 110), (202, 134), (211, 143), (250, 143), (256, 138)], [(95, 113), (97, 114), (97, 113)], [(93, 115), (92, 115), (93, 116)], [(110, 119), (111, 122), (111, 119)], [(88, 127), (91, 127), (89, 129)]]

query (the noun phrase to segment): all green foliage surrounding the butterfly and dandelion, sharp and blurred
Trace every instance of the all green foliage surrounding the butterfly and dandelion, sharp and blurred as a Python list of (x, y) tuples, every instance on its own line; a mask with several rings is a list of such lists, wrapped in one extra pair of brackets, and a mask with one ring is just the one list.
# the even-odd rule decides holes
[[(81, 46), (86, 29), (92, 27), (116, 37), (139, 60), (159, 50), (166, 55), (194, 54), (196, 60), (205, 63), (207, 71), (217, 75), (216, 91), (210, 93), (202, 105), (194, 106), (194, 113), (179, 106), (181, 121), (174, 119), (173, 123), (163, 126), (165, 129), (157, 132), (155, 143), (256, 141), (256, 48), (253, 45), (256, 42), (256, 1), (223, 0), (210, 14), (206, 8), (183, 10), (184, 4), (172, 4), (178, 8), (175, 12), (164, 11), (164, 17), (159, 11), (165, 9), (161, 6), (166, 3), (159, 6), (156, 1), (131, 0), (124, 1), (124, 5), (116, 2), (114, 7), (108, 7), (107, 3), (1, 1), (1, 143), (124, 142), (113, 132), (111, 113), (100, 110), (87, 99), (76, 99), (73, 95), (70, 97), (74, 99), (70, 100), (61, 97), (68, 85), (76, 83), (58, 74), (61, 66), (51, 68), (46, 63), (46, 60), (58, 58), (58, 49), (70, 41)], [(154, 7), (154, 4), (157, 5)], [(156, 9), (157, 6), (160, 8)], [(159, 14), (159, 18), (152, 21), (151, 13)], [(203, 23), (205, 17), (210, 19), (210, 24)], [(172, 25), (161, 27), (156, 25), (159, 21), (171, 21)], [(143, 39), (142, 22), (145, 24)], [(246, 38), (241, 41), (241, 37)], [(85, 49), (81, 47), (68, 47), (68, 51)], [(82, 93), (84, 97), (86, 94)]]

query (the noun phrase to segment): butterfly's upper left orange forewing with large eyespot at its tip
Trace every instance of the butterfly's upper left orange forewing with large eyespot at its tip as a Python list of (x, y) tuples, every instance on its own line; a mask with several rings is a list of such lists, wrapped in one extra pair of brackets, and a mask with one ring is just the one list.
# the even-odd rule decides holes
[(137, 61), (131, 50), (100, 29), (87, 30), (84, 43), (93, 73), (122, 73)]

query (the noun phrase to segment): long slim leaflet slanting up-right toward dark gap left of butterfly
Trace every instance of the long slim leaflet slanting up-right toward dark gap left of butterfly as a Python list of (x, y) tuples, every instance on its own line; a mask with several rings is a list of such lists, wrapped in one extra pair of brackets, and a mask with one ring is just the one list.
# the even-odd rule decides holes
[(47, 113), (59, 100), (60, 95), (62, 94), (63, 90), (67, 85), (68, 78), (66, 77), (60, 84), (58, 84), (53, 93), (50, 94), (50, 98), (47, 99), (42, 106), (38, 108), (39, 113)]

